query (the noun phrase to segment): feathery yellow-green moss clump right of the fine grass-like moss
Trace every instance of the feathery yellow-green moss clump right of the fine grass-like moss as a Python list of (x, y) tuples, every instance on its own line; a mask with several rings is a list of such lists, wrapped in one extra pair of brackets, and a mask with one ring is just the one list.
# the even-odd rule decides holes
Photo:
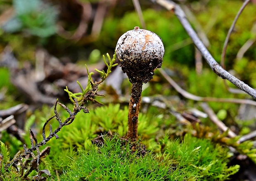
[(163, 153), (166, 159), (177, 162), (189, 178), (200, 181), (216, 181), (228, 179), (235, 174), (239, 165), (228, 167), (231, 154), (227, 148), (212, 144), (210, 140), (198, 139), (186, 134), (183, 142), (162, 140)]

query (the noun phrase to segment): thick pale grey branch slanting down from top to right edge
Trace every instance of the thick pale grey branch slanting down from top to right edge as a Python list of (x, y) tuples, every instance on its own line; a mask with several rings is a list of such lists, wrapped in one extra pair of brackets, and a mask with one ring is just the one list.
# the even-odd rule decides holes
[[(161, 0), (161, 1), (163, 1), (163, 0)], [(159, 0), (156, 0), (156, 2), (159, 3)], [(227, 79), (232, 84), (234, 84), (235, 86), (237, 86), (238, 88), (240, 88), (241, 90), (246, 92), (247, 94), (251, 95), (251, 97), (256, 99), (256, 90), (254, 90), (253, 88), (251, 88), (250, 86), (245, 84), (243, 81), (237, 79), (237, 77), (231, 75), (229, 72), (224, 70), (216, 62), (216, 60), (213, 58), (211, 53), (206, 49), (204, 44), (201, 42), (201, 40), (199, 39), (197, 33), (193, 30), (193, 28), (190, 25), (190, 23), (187, 21), (185, 13), (180, 8), (180, 6), (177, 5), (176, 3), (174, 3), (173, 1), (166, 1), (166, 0), (165, 0), (165, 4), (166, 4), (166, 6), (164, 6), (164, 7), (166, 7), (168, 10), (170, 10), (169, 7), (171, 5), (173, 5), (175, 15), (179, 19), (179, 21), (182, 24), (183, 28), (185, 28), (185, 30), (187, 31), (188, 35), (191, 37), (191, 39), (194, 42), (194, 44), (197, 46), (197, 49), (199, 49), (199, 51), (201, 52), (202, 56), (205, 58), (206, 62), (210, 65), (210, 67), (213, 70), (213, 72), (215, 72), (222, 79)], [(163, 3), (161, 5), (163, 5)]]

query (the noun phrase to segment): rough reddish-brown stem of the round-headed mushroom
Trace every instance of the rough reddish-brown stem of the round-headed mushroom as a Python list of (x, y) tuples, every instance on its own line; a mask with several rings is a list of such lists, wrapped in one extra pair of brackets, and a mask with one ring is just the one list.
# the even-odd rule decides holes
[(129, 103), (128, 113), (128, 132), (127, 138), (135, 141), (138, 137), (138, 116), (140, 109), (140, 98), (142, 93), (142, 82), (132, 83), (132, 92)]

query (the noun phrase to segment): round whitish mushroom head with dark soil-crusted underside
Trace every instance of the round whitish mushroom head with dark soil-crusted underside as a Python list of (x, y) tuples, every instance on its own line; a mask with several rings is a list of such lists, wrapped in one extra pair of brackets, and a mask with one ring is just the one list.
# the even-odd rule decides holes
[(116, 44), (116, 57), (131, 82), (147, 83), (163, 62), (164, 45), (154, 32), (135, 27), (124, 33)]

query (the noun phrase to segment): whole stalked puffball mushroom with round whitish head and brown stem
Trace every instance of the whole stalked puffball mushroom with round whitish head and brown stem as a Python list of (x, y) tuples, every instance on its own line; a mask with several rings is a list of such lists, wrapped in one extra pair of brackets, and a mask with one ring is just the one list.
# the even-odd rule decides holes
[(161, 38), (137, 26), (124, 33), (116, 44), (116, 57), (132, 83), (127, 132), (127, 138), (131, 140), (137, 139), (142, 84), (153, 78), (156, 68), (161, 68), (163, 56)]

